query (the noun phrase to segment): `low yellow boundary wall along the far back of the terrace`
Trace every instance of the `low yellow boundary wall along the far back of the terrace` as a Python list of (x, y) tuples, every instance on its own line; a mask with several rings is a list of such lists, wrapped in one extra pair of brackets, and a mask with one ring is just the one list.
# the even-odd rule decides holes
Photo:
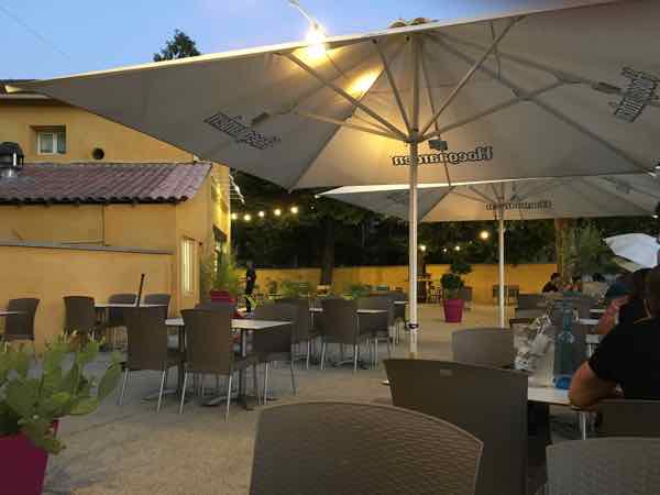
[[(439, 279), (449, 270), (449, 265), (427, 265), (432, 279)], [(556, 264), (507, 265), (505, 278), (507, 284), (520, 286), (521, 293), (539, 293), (550, 279)], [(319, 283), (319, 268), (298, 270), (257, 270), (257, 284), (266, 290), (270, 280), (280, 284), (283, 280), (308, 282), (312, 286)], [(473, 300), (480, 304), (493, 304), (493, 285), (497, 284), (497, 265), (472, 265), (472, 273), (466, 275), (465, 283), (473, 289)], [(354, 266), (334, 268), (332, 287), (336, 293), (345, 292), (353, 284), (389, 285), (402, 287), (408, 292), (407, 266)]]

